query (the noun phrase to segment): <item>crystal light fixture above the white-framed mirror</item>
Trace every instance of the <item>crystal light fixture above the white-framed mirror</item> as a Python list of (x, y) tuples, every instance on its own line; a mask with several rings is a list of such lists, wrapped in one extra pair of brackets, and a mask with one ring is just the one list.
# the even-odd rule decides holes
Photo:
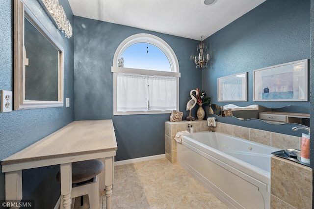
[(59, 0), (41, 0), (39, 1), (43, 8), (50, 14), (52, 22), (58, 27), (59, 30), (64, 32), (65, 37), (72, 36), (72, 26), (67, 19), (63, 7), (59, 4)]

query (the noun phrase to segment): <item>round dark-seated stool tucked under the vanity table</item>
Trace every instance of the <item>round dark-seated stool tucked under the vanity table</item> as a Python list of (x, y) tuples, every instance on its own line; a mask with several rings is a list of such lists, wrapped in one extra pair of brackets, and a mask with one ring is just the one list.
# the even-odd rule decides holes
[[(98, 174), (104, 170), (104, 167), (104, 163), (98, 159), (73, 162), (71, 198), (87, 194), (90, 209), (99, 209)], [(57, 173), (56, 179), (61, 182), (60, 171)]]

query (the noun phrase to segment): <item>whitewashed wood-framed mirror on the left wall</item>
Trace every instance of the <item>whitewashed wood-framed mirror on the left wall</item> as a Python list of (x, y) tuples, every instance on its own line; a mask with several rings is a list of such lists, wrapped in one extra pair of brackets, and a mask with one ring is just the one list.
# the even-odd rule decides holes
[(14, 109), (63, 106), (63, 48), (14, 0)]

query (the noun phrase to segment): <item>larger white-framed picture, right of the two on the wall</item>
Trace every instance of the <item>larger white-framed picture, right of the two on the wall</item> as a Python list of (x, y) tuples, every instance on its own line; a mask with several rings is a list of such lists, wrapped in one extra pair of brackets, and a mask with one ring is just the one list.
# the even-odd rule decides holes
[(308, 59), (253, 71), (253, 101), (308, 101)]

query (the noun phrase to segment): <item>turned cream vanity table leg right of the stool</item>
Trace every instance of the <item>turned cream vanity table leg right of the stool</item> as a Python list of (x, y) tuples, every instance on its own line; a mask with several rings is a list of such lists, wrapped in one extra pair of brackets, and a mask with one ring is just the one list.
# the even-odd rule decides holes
[(106, 209), (111, 209), (111, 194), (113, 183), (113, 157), (105, 158), (105, 194), (106, 194)]

